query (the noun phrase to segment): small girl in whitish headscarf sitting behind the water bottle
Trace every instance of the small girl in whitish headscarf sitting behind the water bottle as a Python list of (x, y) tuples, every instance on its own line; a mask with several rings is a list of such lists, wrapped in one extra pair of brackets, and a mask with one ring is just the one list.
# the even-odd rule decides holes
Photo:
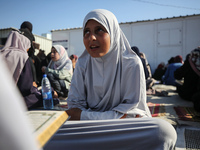
[(73, 75), (72, 62), (67, 51), (62, 45), (54, 45), (51, 49), (49, 65), (42, 67), (42, 72), (47, 74), (51, 86), (58, 97), (67, 97)]

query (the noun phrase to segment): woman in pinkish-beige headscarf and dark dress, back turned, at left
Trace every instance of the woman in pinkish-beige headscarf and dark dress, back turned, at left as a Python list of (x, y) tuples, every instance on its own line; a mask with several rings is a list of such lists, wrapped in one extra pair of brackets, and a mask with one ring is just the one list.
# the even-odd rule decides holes
[(0, 54), (3, 56), (8, 69), (13, 75), (28, 109), (42, 106), (42, 95), (33, 86), (33, 73), (27, 50), (31, 47), (30, 40), (23, 34), (28, 30), (11, 31)]

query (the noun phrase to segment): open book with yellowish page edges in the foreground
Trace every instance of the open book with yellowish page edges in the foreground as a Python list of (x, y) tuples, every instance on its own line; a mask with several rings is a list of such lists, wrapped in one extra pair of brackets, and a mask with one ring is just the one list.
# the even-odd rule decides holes
[(31, 110), (27, 112), (27, 116), (30, 120), (30, 126), (33, 127), (33, 133), (36, 136), (40, 148), (69, 119), (65, 111), (56, 110)]

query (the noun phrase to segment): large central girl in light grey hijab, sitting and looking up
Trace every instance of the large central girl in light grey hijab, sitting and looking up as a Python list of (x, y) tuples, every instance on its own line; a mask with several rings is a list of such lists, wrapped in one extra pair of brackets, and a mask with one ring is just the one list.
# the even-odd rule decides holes
[(142, 62), (114, 14), (104, 9), (87, 14), (83, 42), (86, 50), (67, 99), (72, 121), (44, 149), (173, 149), (176, 132), (168, 122), (151, 118)]

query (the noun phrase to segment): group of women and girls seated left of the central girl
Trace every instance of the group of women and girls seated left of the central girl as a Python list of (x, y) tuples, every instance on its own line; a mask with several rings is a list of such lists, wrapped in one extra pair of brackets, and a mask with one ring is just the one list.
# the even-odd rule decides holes
[[(25, 21), (19, 30), (8, 35), (1, 56), (5, 60), (28, 109), (42, 107), (41, 86), (43, 74), (47, 74), (54, 98), (67, 97), (73, 75), (72, 60), (61, 45), (54, 45), (45, 55), (39, 50), (35, 55), (35, 38), (32, 24)], [(75, 65), (74, 65), (75, 66)]]

